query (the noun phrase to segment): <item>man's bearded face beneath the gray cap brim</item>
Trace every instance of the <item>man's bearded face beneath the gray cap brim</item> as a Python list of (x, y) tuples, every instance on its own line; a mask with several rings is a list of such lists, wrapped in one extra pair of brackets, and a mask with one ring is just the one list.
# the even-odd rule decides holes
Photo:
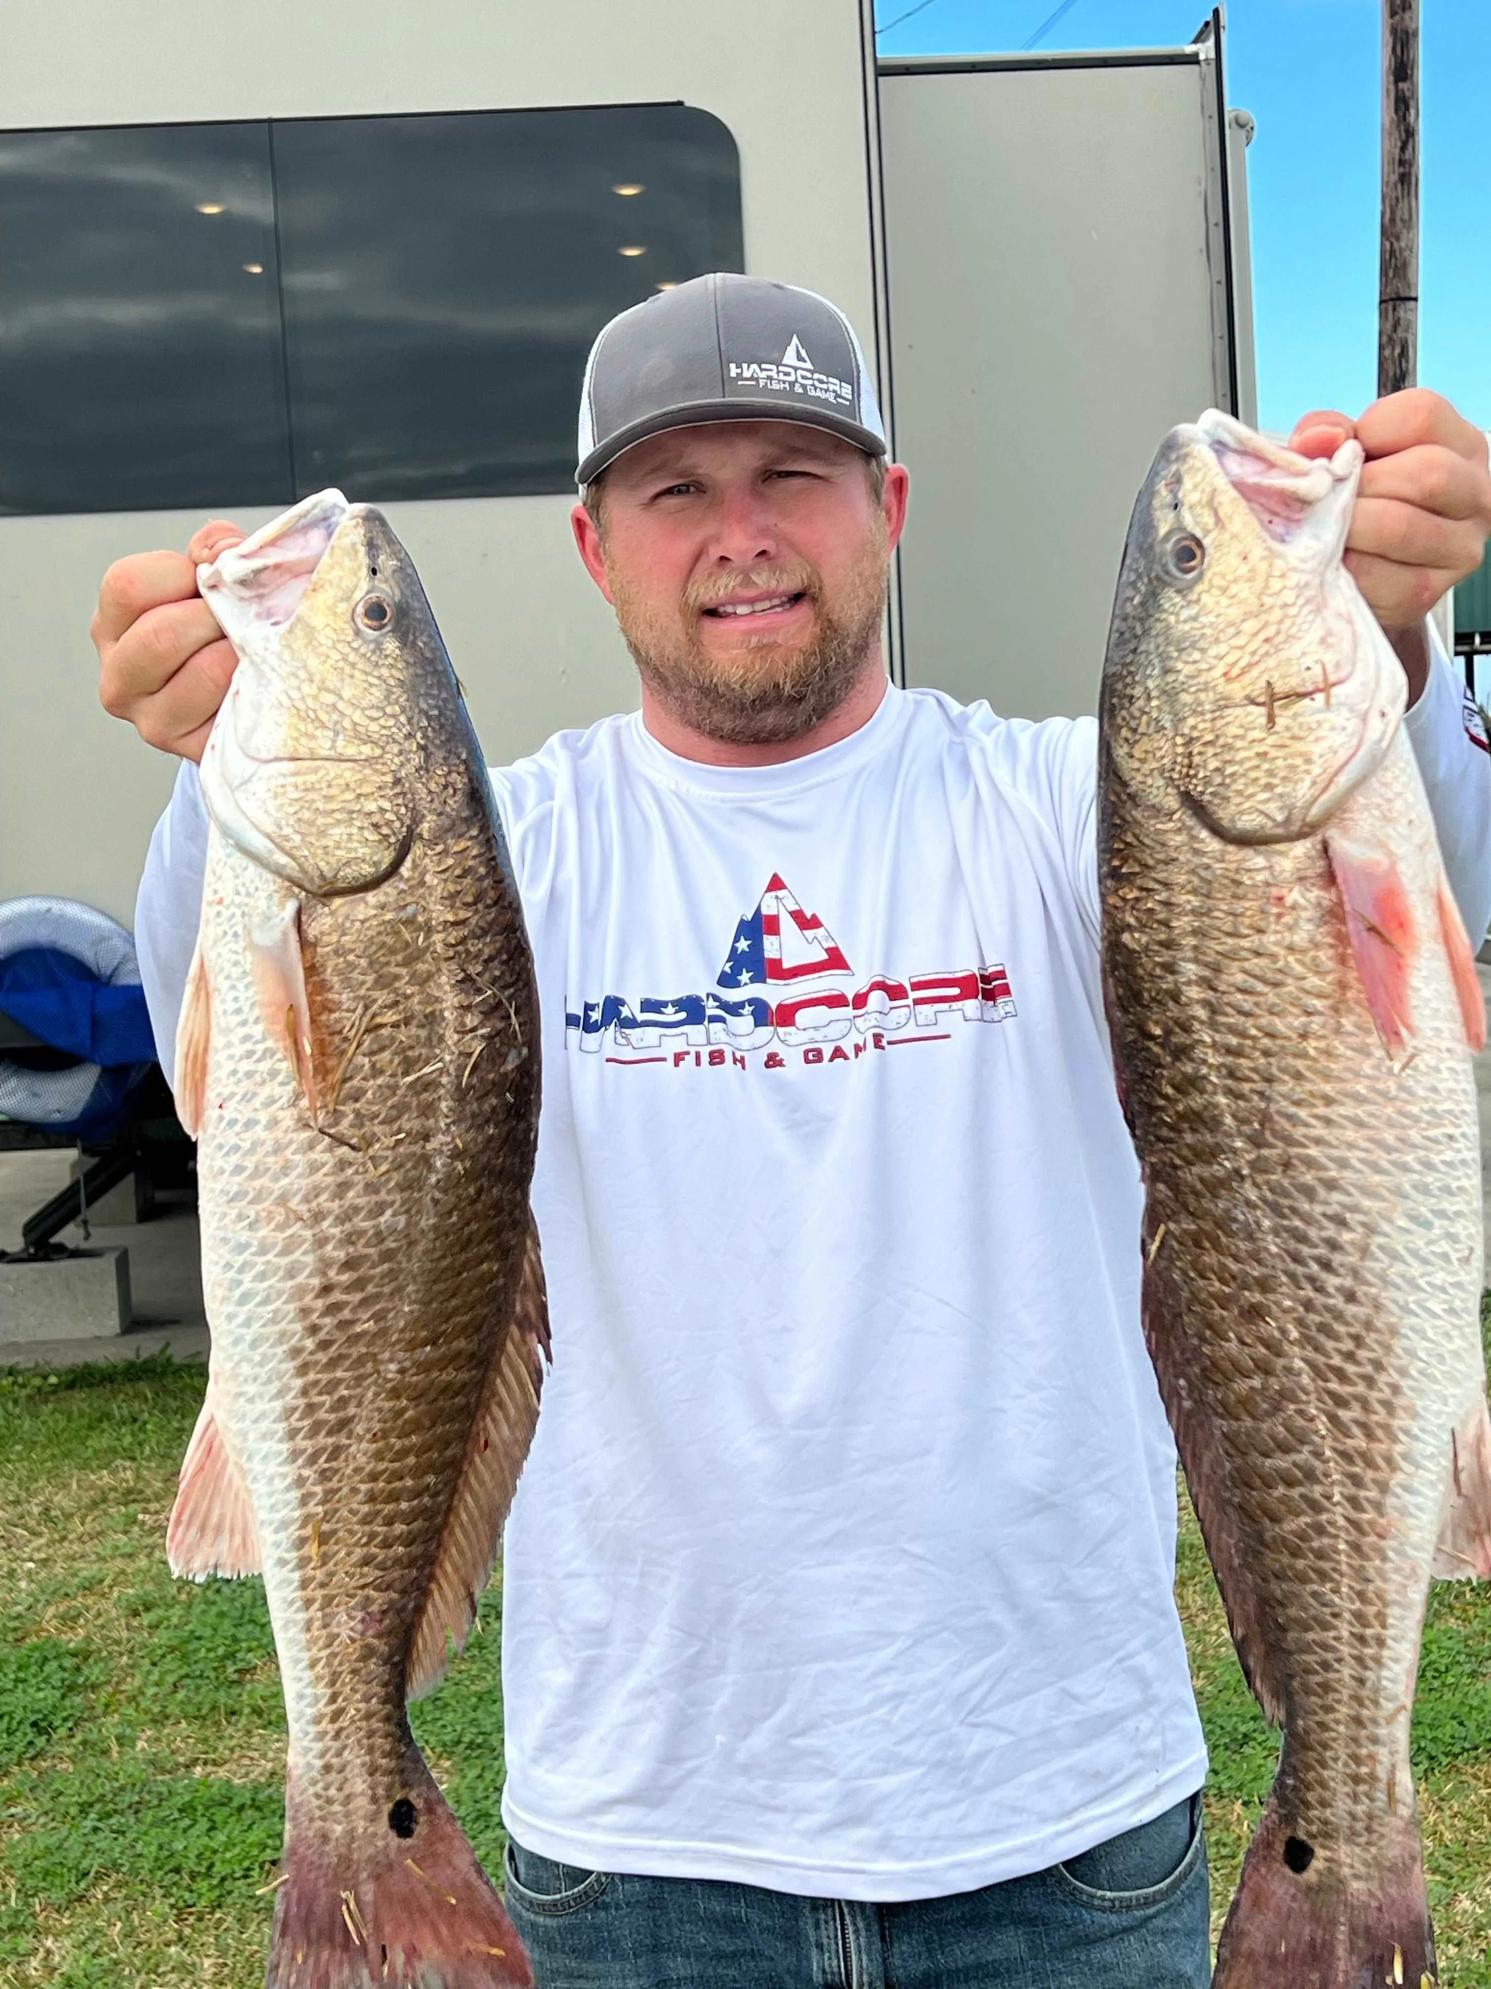
[(879, 658), (905, 471), (885, 497), (849, 442), (795, 422), (710, 422), (626, 450), (580, 553), (646, 688), (730, 744), (799, 738)]

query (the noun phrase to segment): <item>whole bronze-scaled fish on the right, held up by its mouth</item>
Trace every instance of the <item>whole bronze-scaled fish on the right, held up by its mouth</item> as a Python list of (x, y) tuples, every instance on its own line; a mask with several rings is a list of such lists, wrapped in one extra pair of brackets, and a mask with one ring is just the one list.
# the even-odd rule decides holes
[[(1479, 994), (1400, 666), (1340, 569), (1358, 461), (1322, 473), (1221, 416), (1177, 430), (1103, 678), (1103, 973), (1145, 1335), (1239, 1655), (1284, 1728), (1227, 1989), (1433, 1981), (1408, 1752), (1423, 1605), (1437, 1547), (1443, 1571), (1491, 1565)], [(1179, 585), (1177, 547), (1197, 563)]]

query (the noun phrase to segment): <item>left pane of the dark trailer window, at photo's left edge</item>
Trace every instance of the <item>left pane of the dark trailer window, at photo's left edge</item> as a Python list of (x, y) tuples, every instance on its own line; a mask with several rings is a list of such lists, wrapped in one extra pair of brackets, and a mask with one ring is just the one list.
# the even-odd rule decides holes
[(0, 133), (0, 511), (288, 487), (264, 125)]

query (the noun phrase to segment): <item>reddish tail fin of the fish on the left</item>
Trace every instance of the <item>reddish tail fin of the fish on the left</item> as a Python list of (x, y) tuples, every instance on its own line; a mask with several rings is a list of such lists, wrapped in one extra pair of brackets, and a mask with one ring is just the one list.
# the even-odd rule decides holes
[(264, 1989), (531, 1989), (497, 1890), (419, 1762), (388, 1820), (318, 1836), (286, 1800)]

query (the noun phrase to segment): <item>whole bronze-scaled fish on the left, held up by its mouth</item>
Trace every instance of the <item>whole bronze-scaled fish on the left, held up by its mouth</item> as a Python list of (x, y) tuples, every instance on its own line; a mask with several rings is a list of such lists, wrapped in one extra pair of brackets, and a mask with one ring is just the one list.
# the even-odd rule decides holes
[[(243, 1488), (288, 1722), (268, 1983), (527, 1983), (406, 1715), (475, 1615), (547, 1345), (523, 917), (382, 517), (310, 499), (205, 593), (243, 660), (203, 766), (177, 1090), (225, 1482), (193, 1470), (199, 1426), (171, 1549), (223, 1567), (207, 1508)], [(366, 599), (392, 601), (398, 644), (358, 627)]]

